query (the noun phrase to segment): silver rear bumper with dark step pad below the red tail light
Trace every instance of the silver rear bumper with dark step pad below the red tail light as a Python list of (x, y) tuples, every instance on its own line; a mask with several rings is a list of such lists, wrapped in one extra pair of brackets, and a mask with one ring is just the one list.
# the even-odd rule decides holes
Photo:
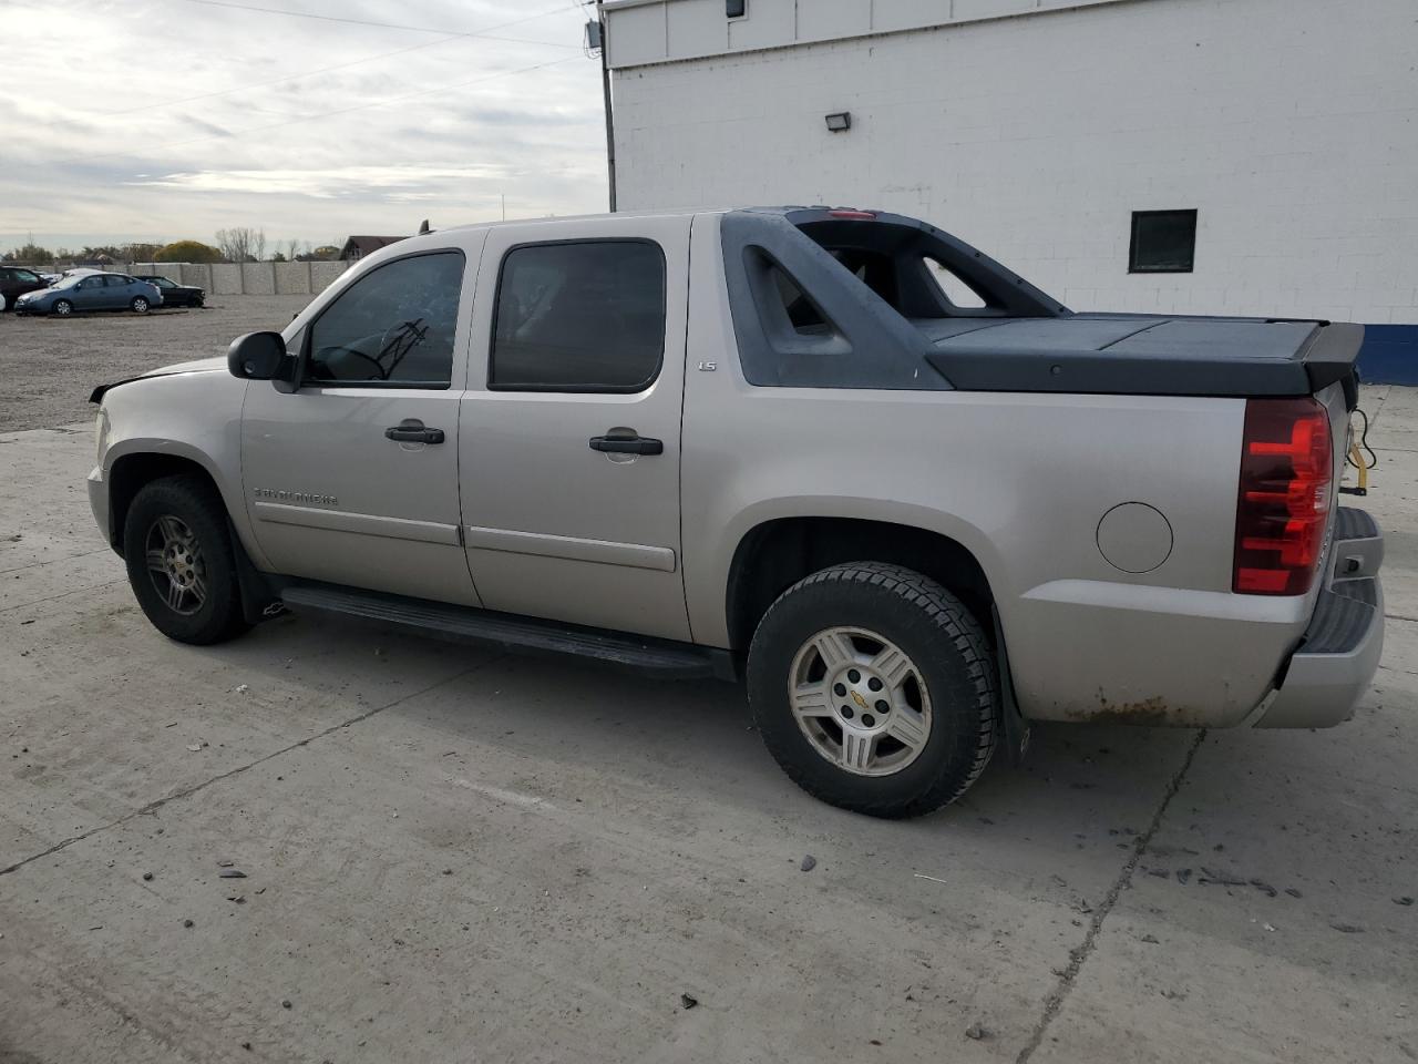
[(1383, 560), (1374, 519), (1341, 508), (1329, 586), (1256, 728), (1330, 728), (1353, 716), (1384, 651)]

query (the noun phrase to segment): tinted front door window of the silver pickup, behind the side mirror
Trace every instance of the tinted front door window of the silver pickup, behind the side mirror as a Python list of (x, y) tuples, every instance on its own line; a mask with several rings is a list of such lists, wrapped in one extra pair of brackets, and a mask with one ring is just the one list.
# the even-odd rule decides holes
[(354, 281), (311, 325), (305, 383), (448, 387), (462, 267), (438, 251)]

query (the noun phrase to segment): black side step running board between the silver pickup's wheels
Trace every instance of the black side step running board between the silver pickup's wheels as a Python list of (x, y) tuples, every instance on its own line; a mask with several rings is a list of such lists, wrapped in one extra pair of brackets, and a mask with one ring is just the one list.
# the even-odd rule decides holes
[(573, 654), (666, 680), (735, 680), (733, 660), (727, 651), (689, 643), (325, 584), (292, 584), (281, 592), (281, 599), (294, 610), (342, 613), (415, 628), (441, 638), (492, 643), (518, 653)]

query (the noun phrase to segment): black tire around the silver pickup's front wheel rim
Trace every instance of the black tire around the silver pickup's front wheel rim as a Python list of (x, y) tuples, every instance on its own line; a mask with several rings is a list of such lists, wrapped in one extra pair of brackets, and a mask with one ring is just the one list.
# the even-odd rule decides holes
[[(200, 552), (196, 556), (204, 597), (189, 613), (169, 604), (159, 584), (170, 589), (170, 579), (147, 566), (150, 538), (160, 536), (159, 519), (167, 516), (190, 531)], [(234, 638), (250, 627), (241, 613), (227, 511), (216, 489), (200, 477), (163, 477), (139, 489), (123, 521), (123, 562), (138, 604), (167, 638), (207, 645)], [(191, 600), (186, 604), (191, 606)]]

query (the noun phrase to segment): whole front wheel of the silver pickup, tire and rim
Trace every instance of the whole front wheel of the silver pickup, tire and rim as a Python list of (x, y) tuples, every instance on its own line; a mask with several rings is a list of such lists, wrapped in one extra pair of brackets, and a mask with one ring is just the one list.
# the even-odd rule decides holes
[(197, 477), (163, 477), (123, 521), (128, 582), (147, 620), (179, 643), (223, 643), (247, 630), (227, 514)]

